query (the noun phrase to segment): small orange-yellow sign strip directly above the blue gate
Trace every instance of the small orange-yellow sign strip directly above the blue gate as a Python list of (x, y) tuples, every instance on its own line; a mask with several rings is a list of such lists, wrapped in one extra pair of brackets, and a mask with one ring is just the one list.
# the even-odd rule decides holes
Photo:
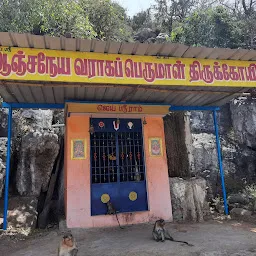
[(70, 113), (104, 113), (104, 114), (150, 114), (166, 115), (170, 106), (158, 105), (132, 105), (132, 104), (86, 104), (68, 103), (67, 111)]

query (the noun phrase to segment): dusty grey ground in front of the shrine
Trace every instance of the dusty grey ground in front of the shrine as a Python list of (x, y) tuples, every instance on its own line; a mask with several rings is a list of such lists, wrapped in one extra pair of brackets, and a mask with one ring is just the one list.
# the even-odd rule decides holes
[[(193, 247), (152, 240), (151, 224), (72, 230), (77, 239), (78, 256), (252, 256), (256, 255), (256, 224), (235, 221), (210, 221), (201, 224), (168, 224), (175, 239)], [(2, 233), (1, 256), (53, 256), (61, 234), (58, 230), (33, 234), (23, 240)]]

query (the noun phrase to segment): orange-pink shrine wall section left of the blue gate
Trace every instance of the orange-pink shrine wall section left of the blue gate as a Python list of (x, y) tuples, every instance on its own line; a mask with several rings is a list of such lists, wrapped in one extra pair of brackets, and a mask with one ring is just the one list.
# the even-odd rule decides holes
[[(66, 121), (65, 203), (69, 227), (83, 226), (90, 216), (90, 137), (89, 116), (70, 116)], [(86, 159), (71, 159), (71, 140), (86, 140)]]

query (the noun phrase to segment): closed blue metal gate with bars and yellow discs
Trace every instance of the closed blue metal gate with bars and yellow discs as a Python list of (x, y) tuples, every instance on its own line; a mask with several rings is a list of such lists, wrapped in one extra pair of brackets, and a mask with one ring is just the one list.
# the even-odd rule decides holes
[[(91, 214), (148, 210), (141, 119), (91, 118)], [(102, 202), (103, 201), (103, 202)]]

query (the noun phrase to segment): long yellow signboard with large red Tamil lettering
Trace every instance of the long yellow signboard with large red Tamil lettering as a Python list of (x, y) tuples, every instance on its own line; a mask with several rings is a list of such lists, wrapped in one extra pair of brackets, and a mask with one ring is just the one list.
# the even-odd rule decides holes
[(0, 80), (256, 87), (256, 62), (0, 47)]

